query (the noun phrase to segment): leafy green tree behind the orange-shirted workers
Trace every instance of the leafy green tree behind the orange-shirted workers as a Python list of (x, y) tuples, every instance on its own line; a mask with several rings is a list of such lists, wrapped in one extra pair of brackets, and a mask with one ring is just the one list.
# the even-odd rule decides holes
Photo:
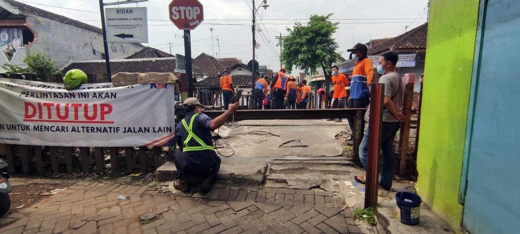
[(328, 70), (340, 57), (336, 52), (339, 45), (333, 37), (339, 23), (331, 22), (329, 20), (331, 16), (332, 14), (313, 15), (307, 25), (297, 22), (292, 29), (287, 28), (289, 35), (283, 38), (283, 49), (280, 55), (285, 69), (290, 72), (294, 66), (316, 72), (317, 68), (321, 68), (325, 77), (330, 78)]

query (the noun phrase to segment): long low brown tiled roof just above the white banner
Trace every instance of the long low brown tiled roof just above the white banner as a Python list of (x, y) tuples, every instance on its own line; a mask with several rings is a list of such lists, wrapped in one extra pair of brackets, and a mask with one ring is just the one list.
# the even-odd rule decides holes
[[(112, 74), (118, 72), (174, 72), (175, 66), (175, 58), (119, 59), (110, 61)], [(72, 62), (62, 72), (66, 73), (70, 69), (80, 69), (85, 73), (92, 74), (107, 73), (105, 60)]]

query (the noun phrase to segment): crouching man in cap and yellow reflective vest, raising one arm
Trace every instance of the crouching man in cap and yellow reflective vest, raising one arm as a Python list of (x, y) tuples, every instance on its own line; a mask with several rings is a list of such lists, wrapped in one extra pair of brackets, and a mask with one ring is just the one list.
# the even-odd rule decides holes
[(204, 106), (197, 98), (184, 101), (186, 117), (175, 128), (175, 138), (179, 148), (175, 151), (173, 162), (177, 167), (177, 179), (173, 186), (177, 190), (189, 191), (188, 180), (202, 178), (200, 190), (209, 192), (211, 184), (220, 168), (213, 148), (211, 131), (224, 125), (238, 109), (239, 103), (232, 103), (229, 109), (214, 120), (202, 113)]

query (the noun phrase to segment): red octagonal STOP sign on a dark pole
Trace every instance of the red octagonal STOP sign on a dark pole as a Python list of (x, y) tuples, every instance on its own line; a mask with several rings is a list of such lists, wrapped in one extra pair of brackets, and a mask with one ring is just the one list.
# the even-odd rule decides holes
[(180, 30), (192, 30), (204, 20), (204, 10), (198, 0), (173, 0), (168, 6), (170, 20)]

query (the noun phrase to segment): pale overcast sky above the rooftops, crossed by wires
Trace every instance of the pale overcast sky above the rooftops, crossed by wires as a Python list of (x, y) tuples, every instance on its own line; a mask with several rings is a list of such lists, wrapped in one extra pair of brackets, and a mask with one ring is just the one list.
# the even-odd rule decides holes
[[(117, 1), (105, 0), (104, 2)], [(204, 6), (204, 21), (191, 32), (193, 58), (204, 52), (209, 55), (215, 53), (215, 57), (238, 58), (243, 62), (252, 59), (250, 8), (252, 0), (199, 1)], [(99, 4), (96, 0), (20, 2), (101, 27)], [(170, 53), (168, 43), (172, 43), (172, 53), (184, 55), (183, 38), (179, 37), (183, 32), (168, 19), (170, 2), (170, 0), (150, 0), (137, 4), (139, 7), (148, 7), (149, 43), (144, 45)], [(258, 7), (262, 2), (256, 0), (255, 3)], [(261, 65), (277, 70), (280, 67), (280, 48), (276, 45), (275, 36), (279, 36), (280, 33), (287, 35), (285, 29), (292, 27), (295, 20), (305, 23), (310, 15), (333, 13), (332, 21), (340, 22), (339, 29), (334, 35), (340, 45), (339, 52), (343, 57), (348, 57), (346, 49), (355, 43), (397, 36), (405, 32), (407, 25), (410, 30), (425, 22), (428, 0), (267, 0), (267, 3), (269, 7), (266, 10), (260, 8), (257, 15), (257, 29), (260, 32), (256, 33), (256, 41), (261, 46), (256, 50), (256, 60)], [(132, 6), (136, 4), (121, 5), (121, 7)], [(213, 28), (214, 47), (212, 47), (210, 28)], [(217, 38), (219, 43), (216, 41)]]

